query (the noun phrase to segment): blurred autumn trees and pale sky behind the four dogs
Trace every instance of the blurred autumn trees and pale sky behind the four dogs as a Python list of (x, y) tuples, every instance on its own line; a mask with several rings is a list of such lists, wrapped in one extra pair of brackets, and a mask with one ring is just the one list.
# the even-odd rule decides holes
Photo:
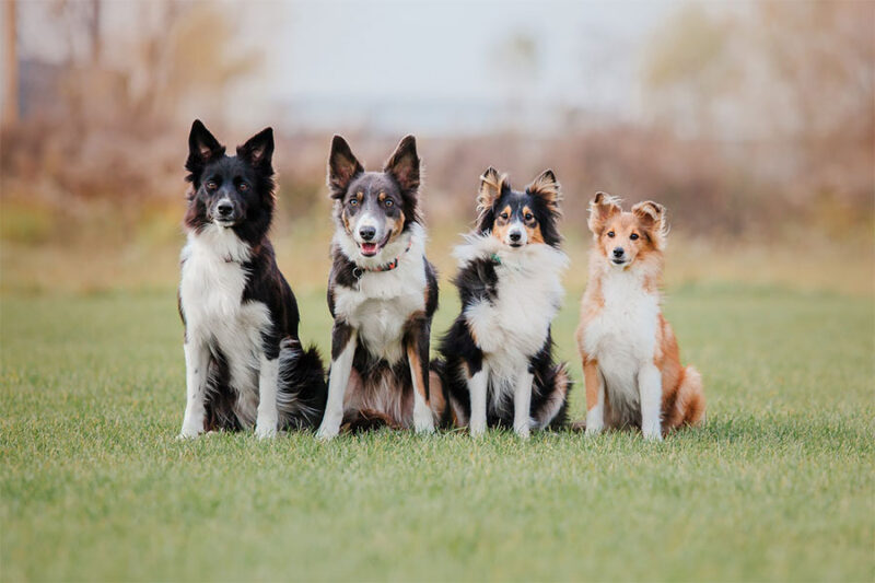
[[(168, 290), (194, 118), (272, 126), (280, 266), (324, 289), (325, 161), (418, 138), (430, 255), (477, 178), (552, 167), (584, 284), (597, 190), (669, 209), (669, 285), (871, 294), (875, 3), (3, 0), (0, 290)], [(576, 299), (574, 299), (576, 302)]]

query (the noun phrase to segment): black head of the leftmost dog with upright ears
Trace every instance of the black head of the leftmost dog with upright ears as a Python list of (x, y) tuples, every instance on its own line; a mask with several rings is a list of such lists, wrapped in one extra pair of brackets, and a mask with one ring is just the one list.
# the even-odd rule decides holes
[(234, 228), (244, 222), (270, 222), (273, 209), (273, 131), (267, 128), (237, 147), (237, 155), (225, 155), (225, 147), (196, 119), (188, 136), (191, 183), (186, 224)]

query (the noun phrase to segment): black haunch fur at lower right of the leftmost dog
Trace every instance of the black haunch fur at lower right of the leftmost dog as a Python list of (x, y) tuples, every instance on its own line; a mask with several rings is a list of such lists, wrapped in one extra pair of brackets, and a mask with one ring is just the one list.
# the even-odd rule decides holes
[(315, 429), (325, 413), (328, 387), (325, 368), (315, 347), (304, 350), (298, 338), (280, 345), (277, 405), (282, 429)]

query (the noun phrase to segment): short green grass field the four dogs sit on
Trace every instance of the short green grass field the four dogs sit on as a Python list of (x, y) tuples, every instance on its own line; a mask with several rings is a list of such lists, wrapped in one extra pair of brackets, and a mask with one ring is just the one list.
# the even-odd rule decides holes
[[(460, 432), (180, 443), (172, 289), (7, 293), (0, 579), (872, 581), (872, 299), (669, 292), (709, 413), (662, 444)], [(575, 383), (579, 294), (555, 325)], [(300, 301), (303, 338), (326, 350), (323, 294)], [(581, 416), (579, 384), (572, 405)]]

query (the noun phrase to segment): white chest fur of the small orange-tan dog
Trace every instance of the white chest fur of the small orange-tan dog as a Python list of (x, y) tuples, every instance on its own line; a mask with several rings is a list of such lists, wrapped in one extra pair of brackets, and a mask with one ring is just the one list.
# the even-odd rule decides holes
[(617, 415), (639, 409), (638, 372), (656, 349), (660, 294), (644, 290), (632, 270), (610, 268), (602, 276), (604, 307), (584, 330), (584, 349), (598, 360)]

